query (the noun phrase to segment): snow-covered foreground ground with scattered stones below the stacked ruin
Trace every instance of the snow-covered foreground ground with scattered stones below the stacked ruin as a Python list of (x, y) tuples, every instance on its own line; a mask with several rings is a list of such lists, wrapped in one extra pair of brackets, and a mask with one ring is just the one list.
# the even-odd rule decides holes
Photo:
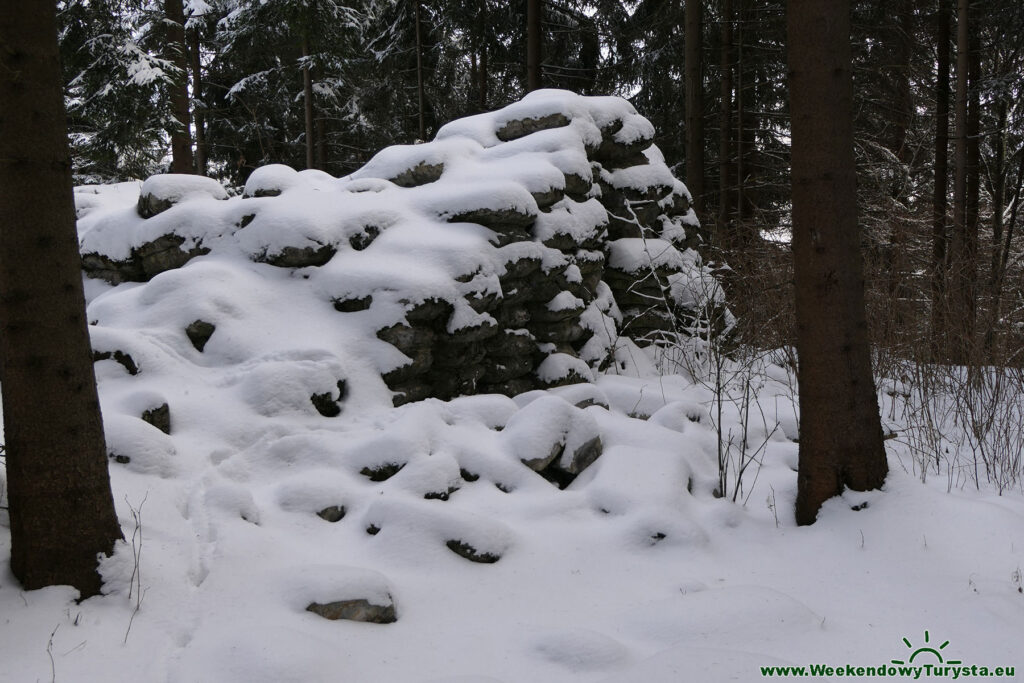
[[(81, 604), (0, 574), (0, 680), (749, 681), (762, 666), (905, 660), (903, 638), (919, 647), (926, 632), (949, 641), (947, 660), (1021, 664), (1019, 492), (946, 493), (893, 455), (883, 492), (830, 501), (798, 528), (797, 445), (781, 430), (746, 504), (732, 503), (712, 494), (710, 392), (607, 376), (588, 393), (610, 409), (580, 411), (604, 451), (564, 490), (506, 438), (550, 438), (541, 417), (577, 410), (558, 390), (259, 432), (239, 413), (196, 417), (152, 463), (112, 463), (134, 581), (130, 543), (104, 563), (110, 594)], [(790, 408), (781, 385), (762, 398)], [(215, 423), (239, 447), (207, 438)], [(359, 474), (388, 462), (406, 466)], [(334, 505), (341, 520), (316, 515)], [(453, 539), (501, 559), (470, 562)], [(388, 595), (393, 624), (305, 610)]]

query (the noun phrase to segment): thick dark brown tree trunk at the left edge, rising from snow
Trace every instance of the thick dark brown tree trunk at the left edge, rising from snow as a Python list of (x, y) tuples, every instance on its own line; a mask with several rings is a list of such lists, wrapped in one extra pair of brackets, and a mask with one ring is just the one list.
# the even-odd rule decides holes
[(75, 232), (54, 4), (0, 9), (0, 386), (14, 575), (99, 592), (121, 539)]

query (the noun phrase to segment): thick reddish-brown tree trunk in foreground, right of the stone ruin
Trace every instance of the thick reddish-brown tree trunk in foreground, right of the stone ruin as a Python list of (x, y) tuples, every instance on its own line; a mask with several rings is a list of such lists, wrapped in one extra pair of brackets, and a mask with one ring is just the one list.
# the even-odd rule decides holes
[(878, 488), (888, 471), (864, 313), (849, 17), (849, 0), (787, 4), (799, 524), (844, 487)]

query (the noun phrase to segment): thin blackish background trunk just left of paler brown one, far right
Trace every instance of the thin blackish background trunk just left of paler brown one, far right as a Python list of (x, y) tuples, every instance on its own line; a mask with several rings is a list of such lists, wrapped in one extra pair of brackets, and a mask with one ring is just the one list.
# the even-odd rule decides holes
[(945, 354), (947, 244), (946, 208), (949, 194), (949, 0), (939, 0), (936, 14), (938, 72), (935, 80), (935, 194), (932, 197), (932, 356)]

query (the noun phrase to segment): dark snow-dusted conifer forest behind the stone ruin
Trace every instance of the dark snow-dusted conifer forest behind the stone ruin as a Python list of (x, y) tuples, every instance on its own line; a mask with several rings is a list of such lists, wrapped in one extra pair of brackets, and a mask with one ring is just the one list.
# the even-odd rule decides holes
[[(852, 10), (877, 371), (1017, 367), (1024, 6)], [(742, 340), (793, 342), (781, 1), (70, 0), (58, 22), (78, 183), (171, 170), (239, 186), (270, 163), (345, 175), (537, 81), (626, 96), (730, 266)]]

